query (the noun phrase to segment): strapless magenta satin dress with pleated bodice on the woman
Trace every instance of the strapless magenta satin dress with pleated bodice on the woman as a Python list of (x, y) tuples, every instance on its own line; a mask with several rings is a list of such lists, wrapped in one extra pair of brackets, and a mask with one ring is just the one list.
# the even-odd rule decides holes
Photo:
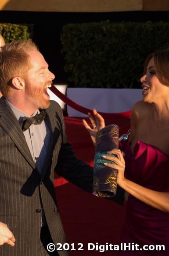
[[(138, 141), (132, 154), (128, 142), (120, 142), (125, 153), (125, 176), (146, 188), (169, 192), (169, 155)], [(142, 245), (165, 245), (165, 251), (121, 251), (120, 256), (169, 256), (169, 213), (157, 210), (129, 195), (121, 241)]]

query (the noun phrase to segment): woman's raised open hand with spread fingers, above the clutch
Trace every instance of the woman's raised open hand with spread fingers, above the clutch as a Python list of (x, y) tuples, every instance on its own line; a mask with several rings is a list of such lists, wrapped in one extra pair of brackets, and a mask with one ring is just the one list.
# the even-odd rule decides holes
[(95, 146), (97, 132), (105, 127), (104, 118), (99, 113), (97, 113), (96, 109), (93, 109), (93, 115), (88, 113), (88, 117), (90, 119), (90, 122), (93, 128), (91, 128), (89, 124), (87, 124), (86, 120), (84, 119), (83, 119), (83, 124), (86, 130), (89, 132), (92, 142)]

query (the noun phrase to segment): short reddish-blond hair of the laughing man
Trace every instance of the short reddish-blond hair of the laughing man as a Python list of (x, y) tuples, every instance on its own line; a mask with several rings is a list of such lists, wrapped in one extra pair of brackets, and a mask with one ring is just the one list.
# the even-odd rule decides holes
[(25, 77), (31, 68), (28, 51), (38, 50), (31, 39), (12, 41), (2, 47), (0, 52), (0, 91), (9, 96), (11, 80), (15, 76)]

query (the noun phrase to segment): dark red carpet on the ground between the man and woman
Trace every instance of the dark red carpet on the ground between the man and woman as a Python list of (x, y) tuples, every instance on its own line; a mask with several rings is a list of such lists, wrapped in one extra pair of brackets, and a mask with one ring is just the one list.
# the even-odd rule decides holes
[[(129, 119), (106, 121), (106, 124), (112, 123), (119, 125), (120, 135), (129, 129)], [(68, 141), (72, 143), (76, 156), (92, 165), (94, 147), (81, 118), (65, 117), (65, 124)], [(65, 233), (68, 243), (74, 243), (76, 248), (76, 251), (71, 251), (70, 255), (100, 256), (101, 252), (96, 250), (96, 247), (95, 250), (88, 251), (88, 243), (93, 243), (95, 246), (96, 243), (119, 244), (125, 207), (104, 198), (97, 198), (71, 183), (64, 183), (67, 181), (56, 177), (56, 196)], [(78, 243), (83, 243), (82, 251), (78, 250)], [(105, 251), (103, 254), (115, 256), (117, 252)]]

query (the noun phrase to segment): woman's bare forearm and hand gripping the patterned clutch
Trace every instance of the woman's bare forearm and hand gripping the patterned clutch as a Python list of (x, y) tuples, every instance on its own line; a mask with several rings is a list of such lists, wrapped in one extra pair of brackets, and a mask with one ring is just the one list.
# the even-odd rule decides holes
[(155, 207), (158, 210), (169, 213), (169, 192), (158, 192), (140, 186), (139, 184), (129, 181), (124, 177), (125, 160), (120, 150), (112, 150), (109, 154), (116, 154), (116, 157), (104, 156), (104, 158), (115, 162), (115, 164), (105, 163), (105, 166), (117, 169), (117, 184), (126, 190), (130, 195), (136, 197), (138, 200), (147, 203), (148, 205)]

